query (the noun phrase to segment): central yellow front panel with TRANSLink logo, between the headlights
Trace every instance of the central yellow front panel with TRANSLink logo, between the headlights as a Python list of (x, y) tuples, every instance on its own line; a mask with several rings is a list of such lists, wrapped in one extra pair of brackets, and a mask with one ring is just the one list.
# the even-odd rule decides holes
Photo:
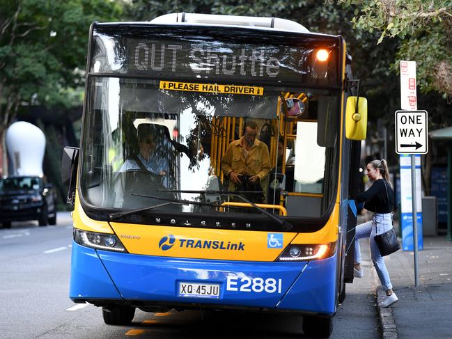
[[(134, 254), (158, 255), (176, 258), (274, 261), (297, 233), (283, 234), (282, 248), (267, 246), (270, 233), (245, 230), (213, 230), (171, 226), (111, 223), (127, 251)], [(173, 235), (176, 241), (170, 249), (160, 249), (164, 237)], [(205, 245), (210, 242), (210, 249)], [(213, 249), (217, 242), (217, 249)], [(165, 242), (165, 244), (169, 244)], [(206, 247), (206, 248), (203, 248)], [(235, 249), (232, 249), (235, 247)]]

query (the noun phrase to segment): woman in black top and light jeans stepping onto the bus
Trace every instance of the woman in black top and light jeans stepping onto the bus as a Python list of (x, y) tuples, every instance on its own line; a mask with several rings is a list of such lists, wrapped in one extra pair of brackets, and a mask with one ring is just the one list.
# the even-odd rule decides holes
[(373, 216), (372, 221), (361, 223), (361, 225), (358, 225), (356, 228), (353, 273), (356, 278), (362, 278), (364, 276), (364, 272), (361, 269), (361, 251), (359, 249), (358, 239), (368, 238), (371, 245), (373, 266), (375, 267), (375, 271), (377, 271), (383, 289), (386, 291), (386, 297), (384, 297), (380, 306), (389, 307), (398, 301), (398, 297), (392, 290), (389, 272), (374, 239), (375, 235), (387, 232), (393, 227), (392, 206), (394, 202), (394, 192), (392, 185), (389, 182), (387, 161), (382, 159), (369, 162), (367, 164), (367, 176), (373, 181), (373, 184), (367, 191), (358, 194), (357, 198), (358, 202), (366, 202), (364, 208), (373, 212)]

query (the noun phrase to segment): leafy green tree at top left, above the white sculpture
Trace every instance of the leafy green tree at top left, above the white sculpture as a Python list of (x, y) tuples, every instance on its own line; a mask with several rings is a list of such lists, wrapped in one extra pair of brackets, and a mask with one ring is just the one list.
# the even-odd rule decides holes
[(114, 20), (120, 13), (120, 6), (108, 0), (0, 1), (3, 150), (5, 131), (21, 106), (72, 104), (68, 90), (83, 85), (91, 22)]

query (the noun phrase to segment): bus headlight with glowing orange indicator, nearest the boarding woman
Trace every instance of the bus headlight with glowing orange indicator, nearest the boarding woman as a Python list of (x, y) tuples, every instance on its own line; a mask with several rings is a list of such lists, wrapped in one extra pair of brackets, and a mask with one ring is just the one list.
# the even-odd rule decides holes
[(290, 244), (276, 261), (310, 261), (329, 258), (336, 251), (336, 243)]

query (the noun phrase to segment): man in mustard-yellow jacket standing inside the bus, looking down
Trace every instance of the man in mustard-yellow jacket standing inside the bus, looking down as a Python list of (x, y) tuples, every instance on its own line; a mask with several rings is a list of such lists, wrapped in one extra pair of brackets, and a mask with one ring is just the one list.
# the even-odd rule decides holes
[[(270, 171), (270, 154), (267, 145), (258, 141), (258, 125), (247, 121), (244, 134), (229, 144), (221, 158), (221, 171), (229, 179), (231, 191), (262, 191), (261, 182)], [(247, 194), (253, 203), (262, 203), (263, 194)]]

